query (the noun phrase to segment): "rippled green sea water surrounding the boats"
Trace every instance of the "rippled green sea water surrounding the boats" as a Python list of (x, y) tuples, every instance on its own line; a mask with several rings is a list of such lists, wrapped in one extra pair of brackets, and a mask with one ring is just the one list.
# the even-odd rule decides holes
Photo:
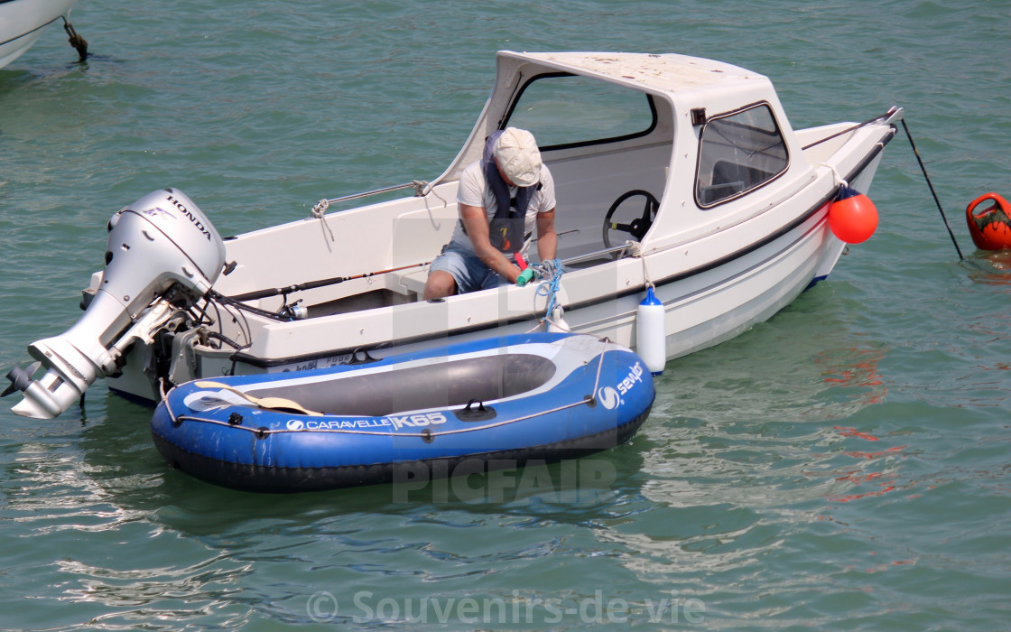
[[(627, 445), (296, 495), (170, 469), (151, 410), (0, 404), (0, 628), (997, 630), (1011, 624), (1011, 3), (82, 0), (0, 70), (0, 366), (80, 314), (105, 222), (166, 186), (222, 235), (439, 175), (497, 50), (683, 53), (795, 127), (907, 121), (877, 235), (767, 323), (670, 362)], [(564, 200), (559, 200), (564, 212)]]

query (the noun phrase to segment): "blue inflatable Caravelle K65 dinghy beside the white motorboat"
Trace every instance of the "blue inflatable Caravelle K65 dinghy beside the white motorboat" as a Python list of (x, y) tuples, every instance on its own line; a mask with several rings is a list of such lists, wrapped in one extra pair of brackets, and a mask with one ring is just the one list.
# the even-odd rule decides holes
[[(181, 384), (151, 422), (175, 467), (258, 491), (405, 481), (613, 448), (653, 403), (650, 372), (607, 340), (530, 334), (327, 369)], [(443, 472), (439, 474), (438, 472)]]

